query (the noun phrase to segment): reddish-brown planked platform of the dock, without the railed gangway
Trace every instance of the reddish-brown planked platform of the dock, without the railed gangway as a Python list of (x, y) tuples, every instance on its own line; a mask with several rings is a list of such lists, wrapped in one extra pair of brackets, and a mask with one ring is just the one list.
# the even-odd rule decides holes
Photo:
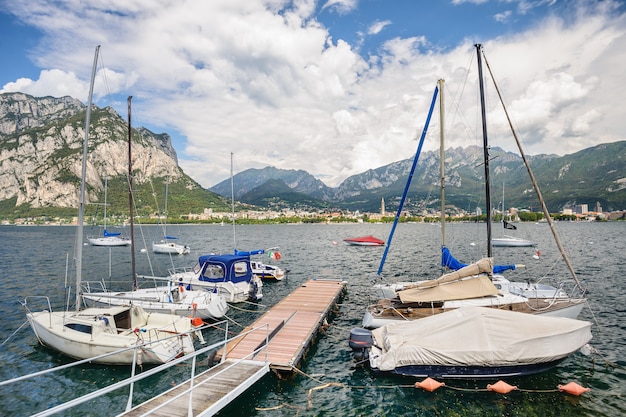
[[(267, 360), (274, 370), (292, 371), (307, 348), (313, 343), (320, 327), (336, 307), (345, 291), (346, 282), (339, 280), (309, 280), (296, 288), (278, 304), (263, 314), (243, 331), (269, 327), (267, 350), (257, 355), (258, 360)], [(266, 335), (249, 332), (226, 345), (226, 359), (241, 359), (265, 346)], [(261, 358), (265, 356), (266, 358)], [(223, 356), (218, 353), (217, 357)]]

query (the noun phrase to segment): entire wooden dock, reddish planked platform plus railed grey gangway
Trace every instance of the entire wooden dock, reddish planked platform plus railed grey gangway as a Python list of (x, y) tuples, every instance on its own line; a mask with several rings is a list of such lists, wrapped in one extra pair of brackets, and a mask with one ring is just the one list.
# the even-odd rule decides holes
[(292, 372), (345, 288), (345, 281), (306, 281), (229, 341), (216, 354), (221, 362), (194, 377), (193, 384), (190, 378), (120, 416), (212, 416), (270, 368)]

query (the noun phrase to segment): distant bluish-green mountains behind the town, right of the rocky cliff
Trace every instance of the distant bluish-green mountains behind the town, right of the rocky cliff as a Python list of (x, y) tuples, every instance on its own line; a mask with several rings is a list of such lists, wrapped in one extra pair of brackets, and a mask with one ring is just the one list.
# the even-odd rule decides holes
[[(492, 204), (503, 200), (508, 207), (539, 211), (539, 202), (521, 156), (500, 148), (490, 149)], [(353, 175), (330, 188), (302, 170), (273, 167), (248, 169), (233, 177), (235, 199), (260, 206), (293, 207), (303, 202), (312, 207), (339, 207), (378, 212), (384, 199), (396, 209), (413, 164), (413, 157)], [(565, 156), (528, 156), (546, 205), (551, 212), (587, 204), (605, 211), (626, 208), (626, 141), (597, 145)], [(405, 208), (420, 212), (440, 207), (439, 152), (420, 155), (412, 177)], [(445, 201), (450, 210), (473, 212), (484, 208), (483, 150), (477, 146), (445, 151)], [(211, 187), (229, 196), (231, 180)], [(280, 200), (277, 199), (280, 197)], [(310, 201), (314, 199), (315, 201)]]

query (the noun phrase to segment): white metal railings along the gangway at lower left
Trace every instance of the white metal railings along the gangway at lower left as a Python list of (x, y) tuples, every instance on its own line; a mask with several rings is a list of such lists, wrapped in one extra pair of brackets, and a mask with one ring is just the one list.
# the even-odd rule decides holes
[[(232, 366), (235, 366), (235, 365), (237, 365), (237, 364), (239, 364), (241, 362), (247, 361), (247, 360), (252, 360), (254, 357), (256, 357), (262, 351), (265, 352), (264, 360), (263, 361), (257, 360), (257, 361), (258, 362), (267, 362), (267, 360), (268, 360), (267, 348), (268, 348), (268, 344), (269, 344), (270, 335), (269, 335), (269, 326), (267, 324), (264, 324), (264, 325), (255, 327), (253, 329), (250, 329), (249, 331), (246, 331), (246, 332), (243, 332), (241, 334), (238, 334), (237, 336), (234, 336), (234, 337), (232, 337), (230, 339), (228, 338), (228, 321), (227, 320), (220, 321), (220, 322), (217, 322), (217, 323), (208, 324), (208, 325), (205, 325), (205, 326), (202, 326), (202, 327), (197, 327), (194, 330), (192, 330), (192, 332), (196, 332), (196, 331), (199, 331), (199, 330), (205, 330), (205, 329), (209, 329), (209, 328), (217, 328), (217, 329), (219, 329), (220, 326), (223, 326), (223, 329), (224, 329), (224, 340), (222, 340), (220, 342), (213, 343), (213, 344), (211, 344), (209, 346), (205, 346), (205, 347), (203, 347), (203, 348), (201, 348), (199, 350), (196, 350), (196, 351), (194, 351), (192, 353), (183, 355), (183, 356), (181, 356), (179, 358), (176, 358), (176, 359), (174, 359), (174, 360), (172, 360), (170, 362), (164, 363), (162, 365), (158, 365), (158, 366), (156, 366), (154, 368), (147, 369), (147, 370), (145, 370), (145, 371), (143, 371), (143, 372), (141, 372), (139, 374), (136, 373), (137, 367), (135, 366), (136, 365), (136, 359), (137, 359), (137, 353), (138, 353), (138, 351), (141, 348), (145, 348), (145, 346), (148, 345), (149, 343), (142, 344), (140, 346), (129, 347), (129, 348), (126, 348), (126, 349), (122, 349), (122, 350), (119, 350), (119, 351), (116, 351), (116, 352), (112, 352), (112, 353), (107, 353), (107, 354), (104, 354), (104, 355), (95, 356), (93, 358), (88, 358), (88, 359), (75, 361), (75, 362), (72, 362), (72, 363), (69, 363), (69, 364), (66, 364), (66, 365), (61, 365), (61, 366), (57, 366), (57, 367), (54, 367), (54, 368), (51, 368), (51, 369), (46, 369), (46, 370), (43, 370), (43, 371), (31, 373), (31, 374), (28, 374), (28, 375), (23, 375), (23, 376), (20, 376), (20, 377), (8, 379), (6, 381), (0, 381), (0, 388), (3, 387), (3, 386), (9, 386), (9, 385), (16, 384), (16, 383), (18, 383), (20, 381), (30, 380), (30, 379), (37, 378), (37, 377), (40, 377), (40, 376), (43, 376), (43, 375), (60, 372), (60, 371), (63, 371), (65, 369), (68, 369), (68, 368), (81, 366), (81, 365), (84, 365), (84, 364), (89, 364), (89, 363), (94, 362), (97, 359), (104, 358), (104, 357), (109, 356), (109, 355), (115, 355), (115, 354), (118, 354), (118, 353), (123, 352), (123, 351), (134, 349), (135, 350), (135, 352), (134, 352), (134, 361), (133, 361), (133, 366), (131, 366), (131, 369), (130, 369), (131, 375), (130, 375), (129, 378), (124, 379), (122, 381), (119, 381), (117, 383), (111, 384), (111, 385), (109, 385), (107, 387), (98, 389), (98, 390), (93, 391), (91, 393), (82, 395), (82, 396), (77, 397), (75, 399), (66, 401), (64, 403), (61, 403), (59, 405), (56, 405), (56, 406), (54, 406), (52, 408), (49, 408), (49, 409), (44, 410), (44, 411), (41, 411), (39, 413), (32, 414), (32, 416), (33, 417), (34, 416), (36, 416), (36, 417), (43, 417), (43, 416), (54, 415), (56, 413), (60, 413), (60, 412), (65, 411), (65, 410), (69, 410), (69, 409), (71, 409), (73, 407), (76, 407), (76, 406), (78, 406), (80, 404), (83, 404), (83, 403), (85, 403), (87, 401), (91, 401), (93, 399), (99, 398), (99, 397), (101, 397), (101, 396), (103, 396), (105, 394), (111, 393), (111, 392), (116, 391), (116, 390), (123, 389), (125, 387), (128, 387), (129, 393), (128, 393), (128, 402), (127, 402), (126, 409), (125, 409), (124, 412), (128, 412), (128, 411), (130, 411), (133, 408), (133, 393), (134, 393), (135, 383), (137, 383), (137, 382), (139, 382), (139, 381), (141, 381), (141, 380), (143, 380), (145, 378), (148, 378), (148, 377), (150, 377), (152, 375), (156, 375), (156, 374), (165, 372), (168, 369), (171, 369), (172, 367), (175, 367), (175, 366), (180, 365), (183, 362), (187, 362), (187, 361), (191, 361), (190, 376), (189, 376), (189, 381), (188, 381), (188, 382), (190, 382), (190, 387), (187, 390), (185, 390), (184, 392), (182, 392), (179, 395), (177, 395), (176, 397), (173, 397), (173, 398), (169, 399), (168, 401), (164, 402), (158, 408), (161, 408), (162, 406), (165, 406), (165, 405), (171, 403), (172, 401), (182, 397), (183, 395), (189, 394), (189, 410), (191, 410), (191, 404), (192, 404), (192, 398), (193, 398), (193, 390), (197, 386), (200, 386), (200, 385), (210, 381), (211, 378), (214, 378), (217, 375), (220, 375), (220, 374), (226, 372)], [(206, 380), (202, 381), (200, 384), (194, 385), (194, 380), (195, 380), (194, 378), (195, 378), (195, 375), (196, 375), (196, 364), (197, 364), (198, 356), (205, 355), (205, 354), (206, 355), (210, 355), (210, 353), (212, 351), (217, 351), (218, 349), (225, 347), (228, 343), (236, 341), (238, 338), (244, 337), (245, 335), (247, 335), (249, 333), (252, 333), (252, 332), (258, 332), (258, 331), (263, 331), (263, 330), (265, 331), (265, 340), (266, 340), (265, 344), (262, 344), (255, 351), (251, 352), (246, 357), (244, 357), (242, 359), (239, 359), (236, 362), (233, 362), (231, 365), (229, 365), (228, 367), (225, 367), (220, 372), (218, 372), (218, 373), (212, 375), (211, 377), (207, 378)], [(172, 336), (172, 337), (178, 337), (178, 336), (179, 335), (175, 335), (175, 336)], [(222, 360), (223, 360), (226, 349), (222, 349), (222, 351), (224, 352), (223, 355), (222, 355)], [(164, 392), (165, 392), (165, 390), (164, 390)], [(157, 396), (157, 395), (159, 395), (159, 394), (155, 394), (154, 396)], [(157, 408), (155, 408), (155, 410), (156, 409)]]

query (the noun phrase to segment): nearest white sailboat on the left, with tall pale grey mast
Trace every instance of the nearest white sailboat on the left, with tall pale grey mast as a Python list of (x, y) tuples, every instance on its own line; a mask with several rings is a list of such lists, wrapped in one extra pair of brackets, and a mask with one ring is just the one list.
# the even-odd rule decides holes
[[(53, 311), (47, 296), (26, 297), (22, 305), (26, 309), (26, 318), (38, 341), (62, 354), (76, 359), (95, 358), (96, 363), (112, 365), (159, 364), (194, 351), (192, 335), (196, 328), (189, 318), (173, 314), (148, 314), (141, 306), (136, 305), (81, 309), (85, 178), (91, 103), (99, 50), (100, 46), (96, 47), (85, 119), (75, 243), (75, 310)], [(129, 185), (129, 193), (131, 191)], [(134, 278), (134, 256), (132, 265)], [(37, 298), (39, 301), (43, 300), (46, 306), (42, 311), (33, 311), (32, 304), (29, 304)]]

